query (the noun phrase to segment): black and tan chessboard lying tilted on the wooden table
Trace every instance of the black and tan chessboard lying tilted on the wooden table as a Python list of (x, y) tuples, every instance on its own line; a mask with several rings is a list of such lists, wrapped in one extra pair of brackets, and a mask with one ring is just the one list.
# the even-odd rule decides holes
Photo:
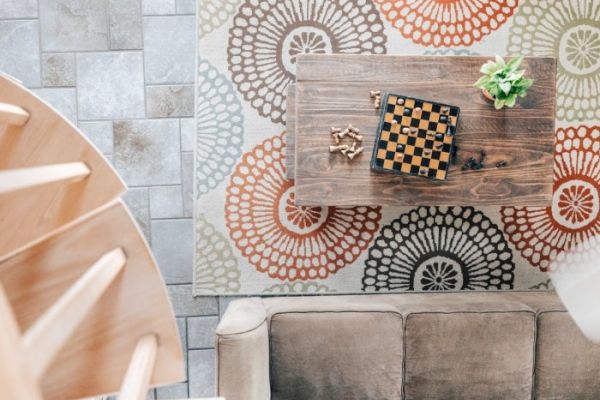
[(445, 180), (459, 113), (448, 104), (384, 94), (371, 169)]

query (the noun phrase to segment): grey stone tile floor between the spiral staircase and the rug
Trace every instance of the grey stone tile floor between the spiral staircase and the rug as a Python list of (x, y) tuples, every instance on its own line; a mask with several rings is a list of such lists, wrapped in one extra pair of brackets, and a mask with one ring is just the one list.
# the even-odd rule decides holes
[(187, 350), (187, 381), (159, 399), (212, 394), (230, 300), (192, 297), (194, 14), (195, 0), (0, 0), (0, 70), (76, 123), (130, 187)]

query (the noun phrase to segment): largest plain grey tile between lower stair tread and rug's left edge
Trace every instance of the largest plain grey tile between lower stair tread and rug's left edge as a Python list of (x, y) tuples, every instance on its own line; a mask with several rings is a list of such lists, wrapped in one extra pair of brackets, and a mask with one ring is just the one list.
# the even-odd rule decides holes
[(194, 264), (192, 220), (152, 220), (151, 226), (152, 250), (165, 282), (191, 283)]

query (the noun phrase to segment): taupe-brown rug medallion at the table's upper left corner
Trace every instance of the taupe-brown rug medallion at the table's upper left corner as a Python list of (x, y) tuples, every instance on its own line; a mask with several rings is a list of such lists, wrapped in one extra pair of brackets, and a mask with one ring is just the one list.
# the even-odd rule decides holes
[(244, 99), (281, 123), (299, 54), (383, 54), (383, 30), (371, 0), (246, 0), (229, 30), (229, 70)]

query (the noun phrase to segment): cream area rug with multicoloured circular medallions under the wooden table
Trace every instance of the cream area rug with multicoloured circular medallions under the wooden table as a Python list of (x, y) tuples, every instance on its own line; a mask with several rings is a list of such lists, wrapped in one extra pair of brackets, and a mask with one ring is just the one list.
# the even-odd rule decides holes
[[(195, 294), (548, 289), (600, 234), (600, 0), (200, 0)], [(550, 208), (297, 207), (300, 53), (558, 58)]]

